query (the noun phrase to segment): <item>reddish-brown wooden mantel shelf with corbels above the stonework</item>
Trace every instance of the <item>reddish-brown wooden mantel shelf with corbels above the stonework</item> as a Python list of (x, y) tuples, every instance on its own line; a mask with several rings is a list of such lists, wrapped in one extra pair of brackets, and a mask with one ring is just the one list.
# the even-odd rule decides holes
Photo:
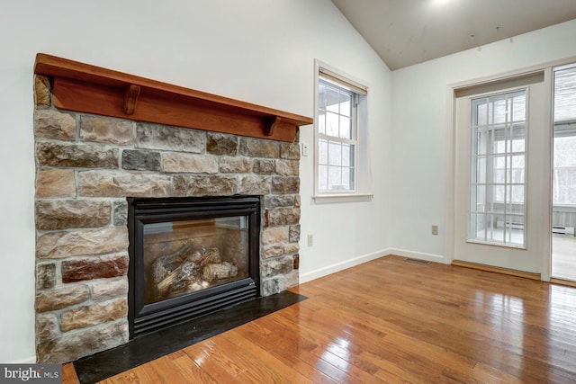
[(293, 142), (309, 117), (39, 53), (36, 75), (52, 77), (54, 106), (134, 121)]

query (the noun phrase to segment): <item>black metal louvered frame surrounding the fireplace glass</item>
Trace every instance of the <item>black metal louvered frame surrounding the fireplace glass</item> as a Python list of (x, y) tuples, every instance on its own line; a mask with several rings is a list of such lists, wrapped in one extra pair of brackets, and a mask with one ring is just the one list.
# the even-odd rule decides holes
[[(128, 320), (130, 339), (167, 326), (210, 314), (222, 308), (260, 297), (260, 197), (226, 196), (193, 198), (128, 199), (129, 255)], [(144, 224), (247, 216), (249, 238), (248, 277), (145, 304), (143, 271)]]

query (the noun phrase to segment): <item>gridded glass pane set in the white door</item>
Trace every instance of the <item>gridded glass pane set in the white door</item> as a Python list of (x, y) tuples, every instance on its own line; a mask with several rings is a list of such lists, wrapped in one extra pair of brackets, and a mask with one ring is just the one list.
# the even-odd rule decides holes
[(472, 100), (469, 239), (524, 246), (526, 90)]

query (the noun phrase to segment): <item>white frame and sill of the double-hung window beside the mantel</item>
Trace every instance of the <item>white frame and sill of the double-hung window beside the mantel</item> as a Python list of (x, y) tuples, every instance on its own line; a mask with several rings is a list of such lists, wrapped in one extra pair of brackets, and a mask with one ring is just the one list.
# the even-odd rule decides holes
[[(370, 192), (370, 161), (368, 151), (367, 103), (368, 86), (343, 72), (329, 67), (315, 60), (315, 87), (314, 87), (314, 196), (317, 203), (339, 201), (369, 201), (373, 194)], [(321, 80), (320, 80), (321, 79)], [(338, 138), (320, 133), (320, 81), (325, 81), (345, 92), (354, 94), (355, 105), (352, 110), (352, 138)], [(355, 146), (354, 153), (354, 186), (347, 190), (320, 190), (320, 140), (329, 139), (332, 142), (350, 144)]]

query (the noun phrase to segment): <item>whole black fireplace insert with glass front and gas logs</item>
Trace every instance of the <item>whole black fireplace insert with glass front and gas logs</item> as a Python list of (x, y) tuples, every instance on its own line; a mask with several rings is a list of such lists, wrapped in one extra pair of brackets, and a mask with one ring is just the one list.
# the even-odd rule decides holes
[(258, 196), (128, 203), (130, 338), (260, 296)]

